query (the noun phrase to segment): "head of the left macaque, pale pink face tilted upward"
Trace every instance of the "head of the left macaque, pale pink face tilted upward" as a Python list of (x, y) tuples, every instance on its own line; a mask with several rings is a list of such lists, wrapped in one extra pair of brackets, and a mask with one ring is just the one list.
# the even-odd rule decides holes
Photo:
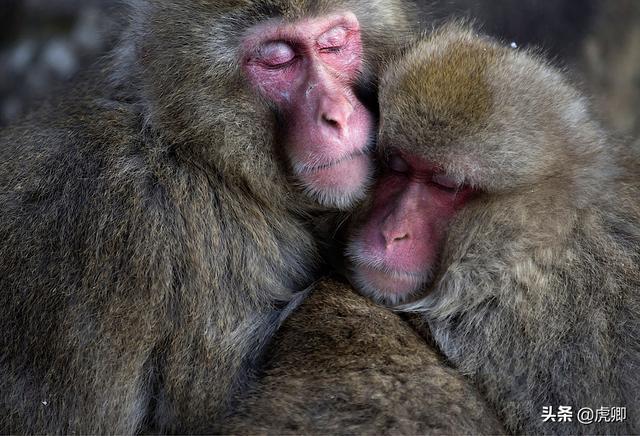
[(265, 204), (347, 208), (372, 178), (371, 102), (384, 60), (412, 30), (406, 8), (139, 0), (120, 55), (139, 68), (144, 126), (179, 160), (213, 166)]

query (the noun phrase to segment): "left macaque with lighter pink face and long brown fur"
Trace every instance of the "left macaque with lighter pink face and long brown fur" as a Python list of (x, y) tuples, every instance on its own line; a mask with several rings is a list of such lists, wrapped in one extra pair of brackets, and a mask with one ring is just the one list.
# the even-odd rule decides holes
[(410, 29), (400, 1), (130, 15), (0, 134), (0, 433), (215, 431), (315, 278), (315, 200), (363, 196), (359, 90)]

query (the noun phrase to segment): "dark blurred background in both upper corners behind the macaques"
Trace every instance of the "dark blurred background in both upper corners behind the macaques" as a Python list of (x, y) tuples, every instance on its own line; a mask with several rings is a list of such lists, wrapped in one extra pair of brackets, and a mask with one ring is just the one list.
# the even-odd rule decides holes
[[(89, 68), (118, 37), (122, 0), (0, 0), (0, 128)], [(430, 28), (452, 16), (543, 50), (640, 147), (640, 0), (417, 0)]]

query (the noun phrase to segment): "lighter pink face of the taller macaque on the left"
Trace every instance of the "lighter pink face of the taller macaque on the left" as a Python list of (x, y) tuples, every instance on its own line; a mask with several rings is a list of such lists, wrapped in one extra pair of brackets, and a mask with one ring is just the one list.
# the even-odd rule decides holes
[(283, 146), (306, 192), (337, 207), (361, 198), (374, 119), (353, 91), (362, 66), (355, 15), (260, 25), (243, 49), (250, 82), (284, 118)]

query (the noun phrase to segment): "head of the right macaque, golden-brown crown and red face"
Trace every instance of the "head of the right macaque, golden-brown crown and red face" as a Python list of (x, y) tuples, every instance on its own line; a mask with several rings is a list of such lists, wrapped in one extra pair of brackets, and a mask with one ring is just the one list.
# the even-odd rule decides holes
[(561, 75), (457, 26), (390, 64), (380, 116), (381, 175), (354, 220), (348, 256), (354, 284), (385, 303), (426, 290), (450, 266), (443, 253), (462, 245), (463, 215), (478, 222), (488, 201), (597, 178), (580, 170), (598, 158), (580, 140), (597, 129)]

